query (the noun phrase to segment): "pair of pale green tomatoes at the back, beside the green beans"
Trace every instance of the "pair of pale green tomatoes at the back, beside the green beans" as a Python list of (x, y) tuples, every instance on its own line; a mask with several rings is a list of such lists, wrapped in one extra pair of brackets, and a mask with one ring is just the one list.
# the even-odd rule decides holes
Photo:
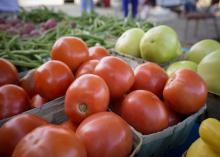
[(165, 25), (153, 27), (146, 33), (140, 28), (131, 28), (118, 38), (115, 50), (158, 64), (174, 61), (182, 55), (177, 33)]

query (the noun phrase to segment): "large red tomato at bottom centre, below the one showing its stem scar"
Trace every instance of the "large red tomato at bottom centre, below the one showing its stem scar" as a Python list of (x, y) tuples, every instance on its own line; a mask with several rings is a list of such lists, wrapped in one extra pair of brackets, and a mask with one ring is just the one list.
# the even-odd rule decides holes
[(132, 132), (128, 124), (113, 112), (100, 112), (86, 118), (76, 134), (90, 157), (128, 157)]

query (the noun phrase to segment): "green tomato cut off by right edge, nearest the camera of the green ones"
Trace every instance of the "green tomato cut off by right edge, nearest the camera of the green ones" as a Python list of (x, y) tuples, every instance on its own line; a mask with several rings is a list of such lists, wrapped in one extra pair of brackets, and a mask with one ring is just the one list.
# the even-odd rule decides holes
[(205, 80), (210, 92), (220, 94), (220, 49), (201, 60), (198, 73)]

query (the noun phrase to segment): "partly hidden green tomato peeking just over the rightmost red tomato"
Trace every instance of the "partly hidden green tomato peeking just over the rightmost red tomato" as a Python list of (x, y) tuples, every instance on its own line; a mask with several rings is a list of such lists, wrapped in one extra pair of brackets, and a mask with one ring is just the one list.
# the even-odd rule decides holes
[(172, 75), (172, 73), (174, 73), (175, 71), (179, 69), (191, 69), (196, 72), (197, 64), (192, 61), (178, 61), (178, 62), (172, 63), (171, 65), (169, 65), (169, 67), (166, 70), (167, 75), (170, 76)]

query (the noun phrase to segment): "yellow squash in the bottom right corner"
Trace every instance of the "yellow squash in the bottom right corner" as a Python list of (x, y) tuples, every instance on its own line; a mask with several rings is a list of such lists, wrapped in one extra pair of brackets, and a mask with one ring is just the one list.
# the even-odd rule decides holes
[(199, 128), (200, 138), (188, 149), (186, 157), (219, 157), (220, 156), (220, 122), (208, 118), (201, 123)]

